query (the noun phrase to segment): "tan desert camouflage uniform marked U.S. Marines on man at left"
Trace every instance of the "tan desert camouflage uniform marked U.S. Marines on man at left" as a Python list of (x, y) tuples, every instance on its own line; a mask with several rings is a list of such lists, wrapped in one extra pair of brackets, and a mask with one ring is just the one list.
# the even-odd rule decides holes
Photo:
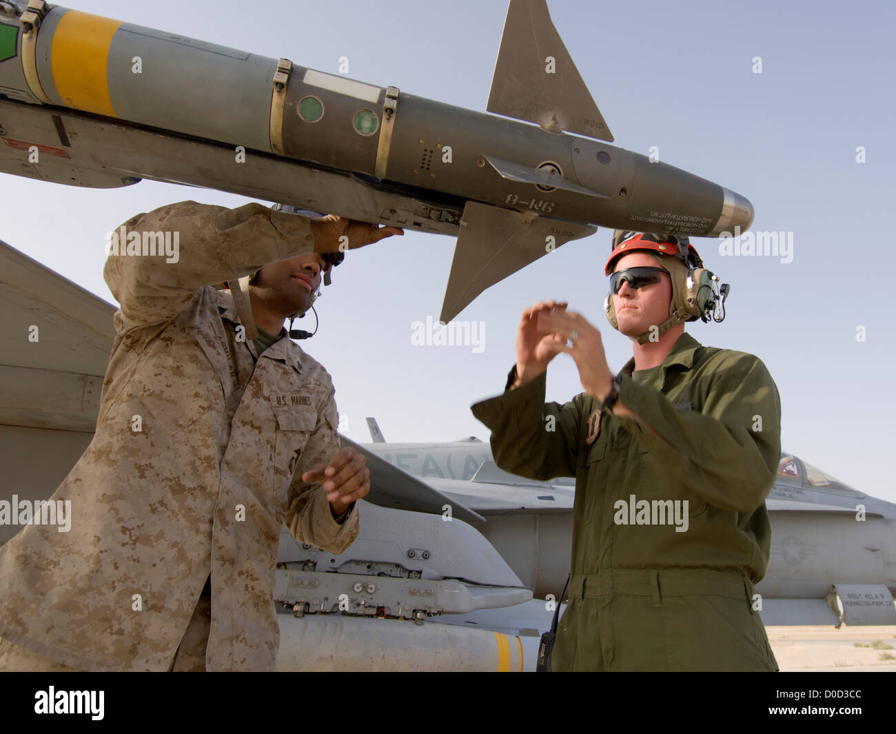
[(179, 232), (179, 260), (108, 257), (121, 308), (96, 433), (53, 495), (71, 531), (29, 525), (0, 548), (0, 637), (75, 668), (165, 670), (211, 573), (207, 669), (275, 669), (280, 526), (338, 553), (358, 511), (336, 522), (301, 481), (339, 450), (330, 375), (288, 338), (259, 357), (211, 285), (312, 252), (310, 228), (194, 202), (125, 227)]

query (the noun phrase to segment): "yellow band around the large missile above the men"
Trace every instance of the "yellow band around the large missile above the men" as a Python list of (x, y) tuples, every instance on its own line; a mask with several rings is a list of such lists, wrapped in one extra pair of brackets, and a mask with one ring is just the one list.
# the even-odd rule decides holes
[(70, 10), (53, 34), (53, 82), (71, 108), (118, 117), (109, 98), (107, 65), (112, 37), (121, 21)]

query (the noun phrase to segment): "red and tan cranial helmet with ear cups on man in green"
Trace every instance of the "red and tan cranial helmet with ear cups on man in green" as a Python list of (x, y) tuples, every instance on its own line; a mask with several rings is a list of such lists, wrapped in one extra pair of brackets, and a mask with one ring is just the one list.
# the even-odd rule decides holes
[[(655, 335), (667, 332), (676, 324), (685, 321), (709, 322), (710, 318), (719, 322), (725, 318), (725, 298), (730, 286), (719, 283), (719, 279), (703, 268), (703, 261), (687, 237), (671, 234), (651, 234), (616, 229), (613, 233), (613, 252), (607, 260), (604, 272), (609, 276), (616, 261), (630, 252), (643, 252), (651, 260), (669, 273), (672, 281), (672, 300), (669, 302), (668, 319), (656, 324)], [(607, 321), (618, 331), (613, 294), (604, 299), (604, 313)], [(650, 330), (632, 337), (643, 344), (650, 341)]]

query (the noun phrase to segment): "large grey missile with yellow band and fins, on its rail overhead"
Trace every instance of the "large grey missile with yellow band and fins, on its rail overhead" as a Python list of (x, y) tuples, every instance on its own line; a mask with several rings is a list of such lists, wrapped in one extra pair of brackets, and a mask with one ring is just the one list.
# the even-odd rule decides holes
[(609, 144), (546, 0), (511, 0), (487, 113), (0, 0), (0, 172), (150, 178), (455, 236), (443, 322), (598, 226), (713, 237), (753, 222), (740, 194)]

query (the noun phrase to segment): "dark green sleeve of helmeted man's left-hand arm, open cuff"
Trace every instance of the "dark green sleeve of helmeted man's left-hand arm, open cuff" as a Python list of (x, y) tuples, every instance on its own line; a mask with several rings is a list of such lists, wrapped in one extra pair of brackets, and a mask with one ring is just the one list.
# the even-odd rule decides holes
[[(515, 368), (507, 381), (513, 382)], [(582, 396), (560, 405), (545, 402), (547, 373), (471, 406), (492, 431), (495, 463), (529, 479), (574, 477), (582, 425)]]

